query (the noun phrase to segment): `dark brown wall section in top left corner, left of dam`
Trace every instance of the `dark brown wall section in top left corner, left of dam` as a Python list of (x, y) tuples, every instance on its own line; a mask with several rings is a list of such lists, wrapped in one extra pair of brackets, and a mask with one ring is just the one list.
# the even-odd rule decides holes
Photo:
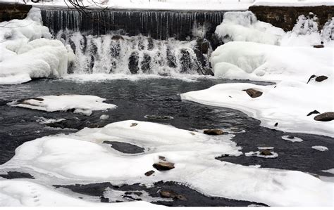
[(24, 19), (32, 8), (25, 4), (1, 4), (0, 3), (0, 22), (13, 19)]

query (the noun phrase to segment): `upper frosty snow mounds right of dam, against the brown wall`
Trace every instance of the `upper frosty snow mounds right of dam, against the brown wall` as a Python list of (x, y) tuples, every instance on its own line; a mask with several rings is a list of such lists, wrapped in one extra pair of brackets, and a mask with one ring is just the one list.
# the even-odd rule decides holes
[[(228, 12), (223, 22), (216, 27), (216, 34), (224, 42), (253, 41), (262, 44), (280, 46), (314, 46), (321, 44), (333, 46), (334, 20), (328, 20), (321, 32), (318, 29), (316, 16), (300, 15), (291, 32), (261, 22), (250, 12)], [(332, 38), (330, 38), (332, 37)]]

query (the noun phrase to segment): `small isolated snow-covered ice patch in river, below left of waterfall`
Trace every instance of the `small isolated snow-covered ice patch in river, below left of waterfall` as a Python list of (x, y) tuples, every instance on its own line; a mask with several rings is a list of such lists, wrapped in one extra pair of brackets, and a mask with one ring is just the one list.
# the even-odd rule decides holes
[(13, 107), (24, 107), (32, 110), (45, 112), (66, 112), (73, 110), (74, 113), (91, 115), (95, 110), (114, 109), (116, 105), (104, 103), (105, 98), (88, 95), (62, 95), (62, 96), (40, 96), (28, 98), (23, 101), (14, 100), (8, 105)]

